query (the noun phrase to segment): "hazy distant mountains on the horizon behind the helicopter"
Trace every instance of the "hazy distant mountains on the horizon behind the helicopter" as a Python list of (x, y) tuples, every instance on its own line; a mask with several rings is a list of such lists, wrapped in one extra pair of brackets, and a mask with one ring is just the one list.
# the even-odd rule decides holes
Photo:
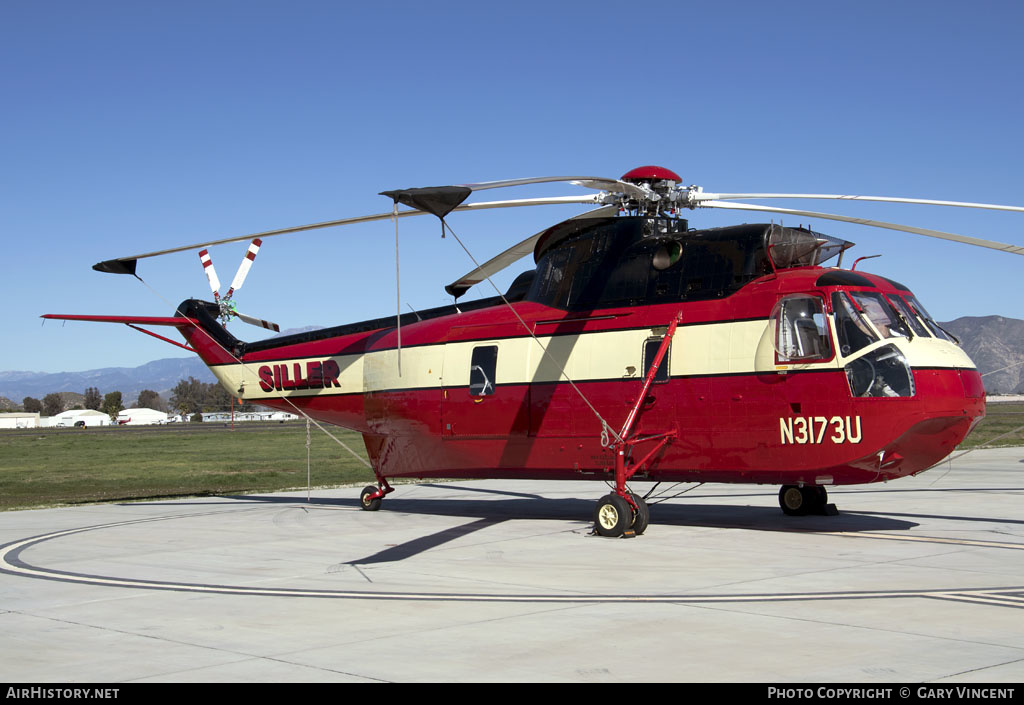
[[(1002, 316), (964, 317), (940, 324), (961, 340), (985, 376), (988, 393), (1024, 393), (1024, 321)], [(292, 331), (288, 331), (292, 332)], [(26, 397), (42, 399), (51, 392), (82, 393), (94, 386), (99, 392), (121, 391), (126, 404), (142, 389), (168, 399), (182, 379), (196, 377), (214, 382), (213, 373), (199, 358), (165, 358), (139, 367), (108, 367), (86, 372), (0, 372), (0, 407), (18, 407)]]

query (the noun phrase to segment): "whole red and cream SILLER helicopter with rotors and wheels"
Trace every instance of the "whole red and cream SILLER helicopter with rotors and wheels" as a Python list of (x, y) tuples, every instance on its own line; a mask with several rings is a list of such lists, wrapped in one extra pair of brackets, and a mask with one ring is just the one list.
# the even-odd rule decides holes
[[(583, 196), (470, 202), (480, 191), (566, 182)], [(659, 166), (621, 178), (553, 176), (382, 192), (390, 212), (224, 238), (105, 260), (204, 248), (214, 301), (173, 317), (46, 315), (123, 323), (199, 355), (232, 395), (361, 433), (381, 508), (389, 480), (598, 480), (601, 536), (643, 534), (639, 481), (778, 485), (788, 515), (836, 513), (827, 488), (922, 472), (985, 415), (981, 376), (905, 285), (843, 268), (853, 243), (809, 226), (694, 229), (698, 208), (795, 214), (1024, 254), (1024, 247), (929, 229), (736, 200), (842, 199), (1024, 212), (891, 197), (707, 193)], [(226, 326), (262, 239), (432, 214), (549, 204), (590, 211), (526, 238), (445, 287), (451, 305), (246, 342)], [(399, 208), (399, 205), (406, 208)], [(207, 247), (252, 239), (225, 296)], [(459, 241), (462, 244), (462, 241)], [(463, 245), (465, 248), (465, 245)], [(468, 250), (467, 250), (468, 253)], [(532, 255), (504, 292), (460, 302)], [(397, 256), (397, 255), (396, 255)], [(472, 255), (470, 255), (472, 257)], [(828, 262), (836, 258), (835, 264)], [(492, 282), (493, 285), (493, 282)], [(180, 343), (143, 326), (176, 328)]]

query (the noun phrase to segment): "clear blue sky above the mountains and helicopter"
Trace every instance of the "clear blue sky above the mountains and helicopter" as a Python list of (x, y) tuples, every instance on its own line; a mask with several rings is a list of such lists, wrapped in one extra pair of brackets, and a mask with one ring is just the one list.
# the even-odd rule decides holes
[[(171, 315), (210, 297), (196, 253), (140, 261), (148, 286), (91, 265), (385, 211), (387, 189), (659, 164), (707, 191), (1024, 205), (1022, 20), (1010, 1), (0, 3), (0, 370), (179, 357), (123, 326), (39, 316)], [(1024, 214), (766, 205), (1024, 245)], [(580, 210), (451, 224), (483, 259)], [(848, 257), (882, 254), (860, 268), (940, 320), (1024, 318), (1020, 256), (812, 224), (858, 243)], [(432, 218), (400, 232), (403, 309), (450, 302), (443, 285), (471, 262)], [(225, 288), (244, 251), (213, 249)], [(392, 225), (268, 239), (237, 299), (285, 328), (393, 313)]]

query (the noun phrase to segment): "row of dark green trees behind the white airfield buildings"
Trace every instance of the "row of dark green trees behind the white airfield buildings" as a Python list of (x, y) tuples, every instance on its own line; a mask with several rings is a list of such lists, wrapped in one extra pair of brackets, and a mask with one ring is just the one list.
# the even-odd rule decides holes
[[(180, 380), (171, 389), (170, 400), (164, 400), (153, 389), (142, 389), (138, 392), (134, 408), (156, 409), (158, 411), (174, 412), (181, 415), (196, 415), (214, 411), (228, 411), (232, 401), (236, 411), (253, 411), (258, 407), (254, 404), (241, 403), (232, 400), (230, 392), (216, 382), (203, 382), (195, 377)], [(101, 395), (94, 386), (86, 387), (82, 403), (70, 406), (66, 398), (59, 393), (49, 393), (43, 399), (26, 397), (22, 408), (29, 413), (40, 413), (43, 416), (56, 416), (69, 409), (92, 409), (101, 411), (111, 419), (117, 419), (118, 414), (125, 409), (123, 396), (120, 391), (109, 391)]]

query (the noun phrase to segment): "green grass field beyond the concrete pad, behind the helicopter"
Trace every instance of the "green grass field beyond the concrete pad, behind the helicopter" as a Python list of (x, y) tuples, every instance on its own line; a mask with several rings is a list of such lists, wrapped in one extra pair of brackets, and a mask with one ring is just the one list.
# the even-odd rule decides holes
[[(1024, 404), (989, 404), (961, 445), (1024, 446)], [(366, 457), (358, 433), (332, 429)], [(310, 483), (374, 484), (373, 472), (318, 432)], [(306, 487), (304, 423), (196, 423), (0, 430), (0, 510), (132, 499), (276, 492)]]

